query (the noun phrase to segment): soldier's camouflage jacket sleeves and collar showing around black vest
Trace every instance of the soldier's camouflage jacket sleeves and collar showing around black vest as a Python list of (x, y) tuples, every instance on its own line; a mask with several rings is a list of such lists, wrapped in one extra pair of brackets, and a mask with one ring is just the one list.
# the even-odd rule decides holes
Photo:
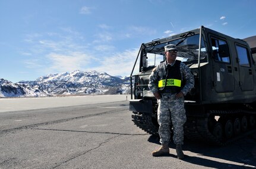
[[(165, 61), (164, 64), (167, 65), (167, 61)], [(173, 64), (171, 64), (171, 66), (173, 66)], [(184, 87), (182, 87), (181, 92), (184, 93), (184, 95), (187, 95), (189, 90), (191, 90), (192, 87), (194, 87), (194, 76), (191, 73), (191, 70), (189, 69), (189, 67), (182, 62), (180, 64), (180, 70), (181, 70), (182, 80), (185, 80), (185, 85)], [(151, 72), (149, 76), (148, 87), (152, 93), (158, 92), (159, 90), (158, 81), (159, 81), (159, 77), (162, 76), (162, 74), (166, 74), (166, 70), (160, 69), (160, 64), (157, 67), (155, 67)]]

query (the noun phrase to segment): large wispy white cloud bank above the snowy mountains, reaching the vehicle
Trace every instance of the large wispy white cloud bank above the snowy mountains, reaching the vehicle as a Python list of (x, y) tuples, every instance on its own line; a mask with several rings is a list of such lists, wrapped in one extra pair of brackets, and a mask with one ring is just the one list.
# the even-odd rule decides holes
[[(105, 26), (102, 25), (102, 27)], [(138, 28), (137, 30), (147, 29)], [(138, 49), (115, 53), (116, 47), (109, 44), (115, 36), (110, 32), (97, 34), (94, 37), (96, 39), (94, 42), (97, 42), (97, 44), (84, 43), (84, 40), (77, 38), (79, 34), (79, 32), (67, 28), (62, 29), (62, 32), (58, 32), (58, 34), (32, 35), (29, 38), (30, 41), (27, 41), (30, 45), (22, 50), (23, 53), (31, 54), (24, 58), (24, 63), (32, 71), (41, 74), (96, 70), (104, 71), (113, 76), (129, 76)], [(130, 34), (127, 33), (126, 36), (129, 37)]]

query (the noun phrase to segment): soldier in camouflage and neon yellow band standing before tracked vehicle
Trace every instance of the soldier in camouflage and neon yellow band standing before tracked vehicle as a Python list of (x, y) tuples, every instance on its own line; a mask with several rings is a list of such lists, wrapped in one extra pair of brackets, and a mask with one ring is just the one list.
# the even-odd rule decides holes
[(162, 146), (152, 152), (153, 156), (169, 154), (170, 121), (173, 124), (173, 142), (176, 144), (177, 157), (184, 158), (182, 145), (183, 125), (187, 117), (184, 109), (184, 96), (194, 87), (194, 76), (181, 61), (176, 60), (176, 45), (165, 46), (166, 61), (155, 67), (149, 76), (148, 87), (157, 99), (157, 119)]

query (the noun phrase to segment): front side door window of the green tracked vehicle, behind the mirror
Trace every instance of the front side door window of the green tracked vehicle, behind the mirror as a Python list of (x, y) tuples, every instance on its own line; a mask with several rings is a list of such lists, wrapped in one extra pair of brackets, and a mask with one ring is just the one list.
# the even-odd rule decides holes
[(214, 60), (230, 63), (229, 46), (227, 45), (226, 41), (211, 38), (211, 47), (213, 50)]

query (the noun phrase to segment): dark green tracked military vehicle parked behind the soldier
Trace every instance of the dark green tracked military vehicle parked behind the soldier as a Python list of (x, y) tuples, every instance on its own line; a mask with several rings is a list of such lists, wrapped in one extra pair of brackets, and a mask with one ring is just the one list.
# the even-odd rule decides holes
[(148, 89), (148, 77), (166, 59), (167, 44), (176, 44), (176, 59), (195, 79), (184, 98), (185, 138), (225, 145), (256, 131), (256, 48), (203, 26), (141, 44), (130, 77), (129, 110), (135, 125), (158, 135), (158, 105)]

